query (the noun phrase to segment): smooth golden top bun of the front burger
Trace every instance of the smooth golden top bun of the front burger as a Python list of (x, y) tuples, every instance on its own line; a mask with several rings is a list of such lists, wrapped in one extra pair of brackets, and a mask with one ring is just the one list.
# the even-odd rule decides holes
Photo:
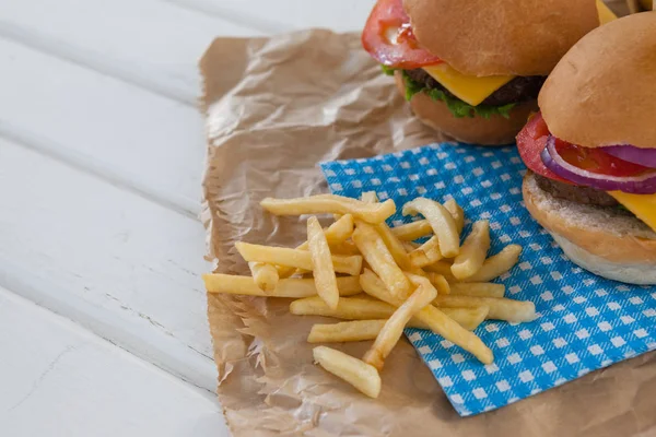
[(656, 147), (656, 12), (593, 31), (563, 57), (539, 95), (549, 130), (587, 147)]

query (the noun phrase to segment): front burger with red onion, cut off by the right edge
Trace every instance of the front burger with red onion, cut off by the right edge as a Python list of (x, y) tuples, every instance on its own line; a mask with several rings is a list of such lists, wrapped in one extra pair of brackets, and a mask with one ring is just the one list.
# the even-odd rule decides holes
[(517, 137), (526, 208), (582, 268), (656, 284), (656, 12), (581, 39), (538, 103)]

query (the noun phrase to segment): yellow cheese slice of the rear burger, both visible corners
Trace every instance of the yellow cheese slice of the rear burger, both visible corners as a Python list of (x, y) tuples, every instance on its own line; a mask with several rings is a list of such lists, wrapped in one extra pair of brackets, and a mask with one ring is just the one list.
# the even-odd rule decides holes
[[(599, 21), (601, 24), (606, 24), (617, 19), (616, 14), (613, 14), (601, 0), (597, 0), (597, 10), (599, 12)], [(442, 86), (450, 91), (453, 95), (471, 106), (480, 105), (492, 93), (515, 78), (513, 75), (477, 78), (462, 74), (447, 63), (424, 67), (423, 69), (433, 79), (440, 82)]]

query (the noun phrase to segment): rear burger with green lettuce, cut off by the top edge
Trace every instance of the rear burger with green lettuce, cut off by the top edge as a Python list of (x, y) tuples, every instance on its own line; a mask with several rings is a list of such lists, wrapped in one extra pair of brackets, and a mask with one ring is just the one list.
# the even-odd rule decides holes
[(425, 125), (499, 145), (536, 110), (560, 58), (613, 19), (596, 0), (378, 0), (362, 45)]

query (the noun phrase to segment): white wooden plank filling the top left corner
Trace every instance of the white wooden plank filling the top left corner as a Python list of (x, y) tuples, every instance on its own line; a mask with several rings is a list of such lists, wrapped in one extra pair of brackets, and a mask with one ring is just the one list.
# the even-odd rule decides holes
[(195, 105), (197, 62), (215, 36), (261, 32), (156, 0), (21, 0), (0, 36)]

